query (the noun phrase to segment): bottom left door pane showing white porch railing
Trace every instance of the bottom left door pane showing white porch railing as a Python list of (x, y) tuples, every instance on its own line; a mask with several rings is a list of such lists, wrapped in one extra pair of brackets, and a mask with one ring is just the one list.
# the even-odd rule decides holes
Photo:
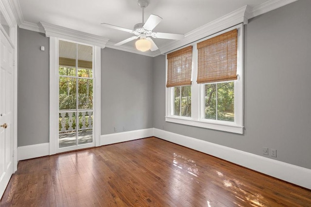
[(77, 144), (75, 114), (75, 112), (59, 113), (59, 148), (75, 146)]

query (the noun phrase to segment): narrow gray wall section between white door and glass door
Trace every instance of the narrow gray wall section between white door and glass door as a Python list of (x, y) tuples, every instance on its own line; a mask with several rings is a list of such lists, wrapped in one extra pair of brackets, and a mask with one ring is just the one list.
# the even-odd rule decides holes
[(18, 29), (17, 47), (17, 146), (48, 143), (49, 38)]

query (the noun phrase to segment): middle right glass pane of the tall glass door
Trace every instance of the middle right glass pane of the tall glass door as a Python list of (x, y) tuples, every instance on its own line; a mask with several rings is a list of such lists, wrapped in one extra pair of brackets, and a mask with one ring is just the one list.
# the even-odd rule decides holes
[(79, 109), (93, 109), (93, 80), (79, 79)]

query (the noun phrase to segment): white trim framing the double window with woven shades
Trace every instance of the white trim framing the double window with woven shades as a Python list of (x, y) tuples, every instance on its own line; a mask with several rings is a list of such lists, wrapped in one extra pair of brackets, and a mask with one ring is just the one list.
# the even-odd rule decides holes
[[(233, 29), (238, 29), (238, 65), (237, 65), (237, 75), (238, 80), (234, 80), (234, 115), (235, 121), (220, 121), (220, 120), (210, 120), (202, 119), (200, 114), (200, 109), (203, 107), (202, 103), (202, 93), (204, 93), (204, 84), (198, 84), (196, 82), (197, 77), (197, 47), (196, 43), (201, 42), (205, 39), (217, 36), (219, 34), (228, 32)], [(189, 125), (194, 127), (203, 127), (216, 129), (221, 131), (227, 131), (232, 133), (243, 134), (243, 24), (236, 25), (234, 27), (228, 28), (222, 32), (215, 33), (208, 36), (207, 38), (200, 39), (192, 45), (192, 84), (191, 84), (191, 117), (182, 117), (171, 115), (172, 113), (172, 97), (173, 97), (173, 87), (166, 88), (165, 91), (165, 121), (173, 122), (177, 124)], [(189, 46), (189, 45), (187, 45)], [(185, 46), (185, 47), (187, 47)], [(180, 49), (180, 48), (178, 48)], [(167, 59), (166, 59), (166, 81), (167, 81)]]

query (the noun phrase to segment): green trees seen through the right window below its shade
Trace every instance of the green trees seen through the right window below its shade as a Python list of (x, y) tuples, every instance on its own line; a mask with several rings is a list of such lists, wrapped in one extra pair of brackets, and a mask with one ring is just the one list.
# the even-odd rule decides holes
[(216, 114), (217, 120), (234, 121), (234, 83), (232, 81), (205, 85), (205, 118), (216, 120)]

